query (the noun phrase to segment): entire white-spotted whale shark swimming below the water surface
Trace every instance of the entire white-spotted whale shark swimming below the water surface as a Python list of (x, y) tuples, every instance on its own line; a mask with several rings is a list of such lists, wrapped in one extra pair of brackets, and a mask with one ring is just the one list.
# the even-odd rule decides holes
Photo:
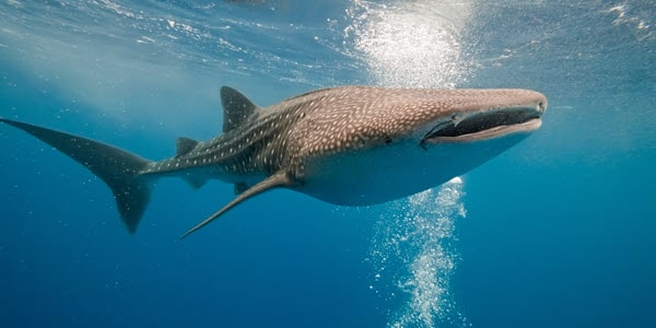
[(116, 147), (8, 118), (84, 165), (112, 189), (134, 234), (159, 178), (194, 188), (234, 185), (235, 198), (179, 239), (263, 191), (288, 188), (339, 206), (368, 206), (438, 186), (483, 164), (541, 125), (547, 98), (522, 89), (348, 85), (269, 107), (223, 86), (223, 132), (177, 139), (176, 154), (149, 161)]

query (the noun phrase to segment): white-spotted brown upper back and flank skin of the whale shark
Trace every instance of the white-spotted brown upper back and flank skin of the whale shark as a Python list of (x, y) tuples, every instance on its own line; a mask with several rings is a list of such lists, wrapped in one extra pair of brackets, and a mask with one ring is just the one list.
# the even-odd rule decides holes
[(265, 108), (251, 121), (150, 169), (200, 164), (230, 174), (272, 174), (281, 167), (302, 174), (307, 159), (383, 147), (455, 113), (541, 101), (541, 94), (526, 90), (326, 89)]

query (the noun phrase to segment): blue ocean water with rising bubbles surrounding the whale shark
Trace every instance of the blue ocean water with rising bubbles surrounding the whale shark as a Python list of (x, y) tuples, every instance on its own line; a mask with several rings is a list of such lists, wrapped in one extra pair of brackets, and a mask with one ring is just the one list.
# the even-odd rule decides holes
[[(2, 327), (651, 327), (653, 1), (19, 1), (0, 4), (0, 116), (149, 159), (341, 84), (524, 87), (542, 128), (382, 206), (249, 200), (163, 179), (134, 236), (107, 187), (0, 126)], [(436, 169), (438, 169), (436, 163)]]

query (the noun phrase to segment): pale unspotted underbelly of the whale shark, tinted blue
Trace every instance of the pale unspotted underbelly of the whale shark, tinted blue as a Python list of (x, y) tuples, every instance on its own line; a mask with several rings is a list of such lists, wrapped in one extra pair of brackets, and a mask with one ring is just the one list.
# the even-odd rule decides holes
[(445, 143), (431, 145), (427, 150), (406, 143), (342, 154), (308, 163), (305, 184), (295, 189), (335, 204), (386, 202), (462, 175), (526, 136)]

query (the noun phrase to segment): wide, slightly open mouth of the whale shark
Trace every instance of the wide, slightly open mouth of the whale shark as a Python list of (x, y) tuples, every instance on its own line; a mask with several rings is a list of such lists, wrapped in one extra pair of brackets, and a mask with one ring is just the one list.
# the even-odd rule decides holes
[(475, 113), (460, 117), (455, 114), (431, 129), (420, 142), (443, 143), (492, 139), (514, 132), (530, 132), (541, 125), (542, 106), (511, 107)]

